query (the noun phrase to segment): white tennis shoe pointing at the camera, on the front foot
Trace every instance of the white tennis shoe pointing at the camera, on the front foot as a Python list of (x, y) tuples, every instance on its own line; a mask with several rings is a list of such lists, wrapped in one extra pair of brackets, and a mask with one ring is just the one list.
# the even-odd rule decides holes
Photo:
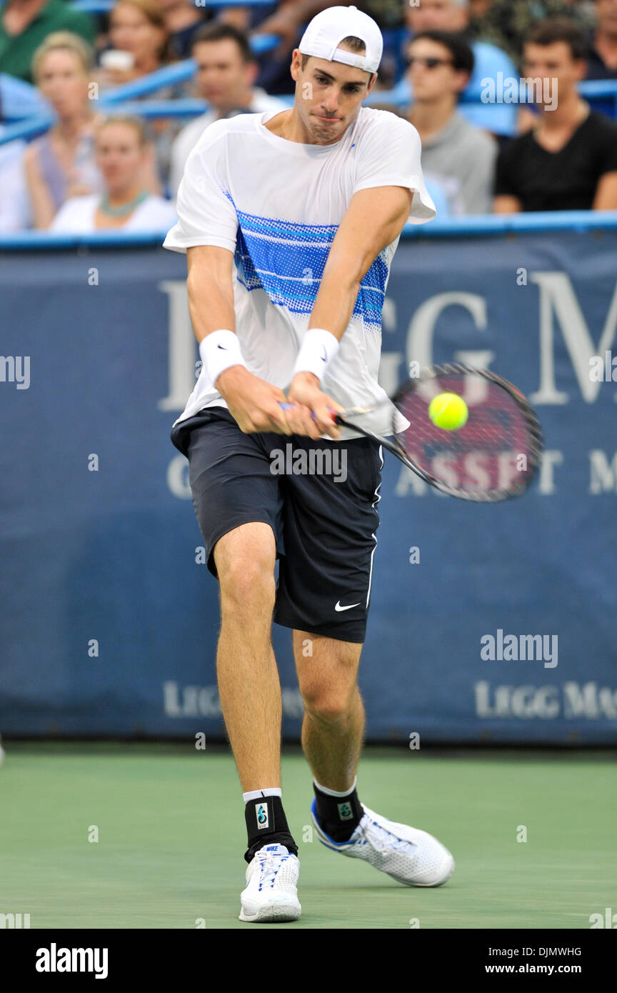
[(246, 889), (240, 894), (240, 921), (297, 921), (300, 861), (285, 845), (264, 845), (246, 867)]

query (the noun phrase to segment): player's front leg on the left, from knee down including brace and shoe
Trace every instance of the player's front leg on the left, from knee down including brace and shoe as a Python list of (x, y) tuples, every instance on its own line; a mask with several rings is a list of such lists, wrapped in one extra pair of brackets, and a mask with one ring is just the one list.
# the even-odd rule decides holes
[(296, 921), (298, 847), (281, 789), (281, 683), (272, 649), (276, 542), (269, 524), (219, 538), (221, 630), (216, 672), (225, 726), (242, 783), (248, 848), (240, 920)]

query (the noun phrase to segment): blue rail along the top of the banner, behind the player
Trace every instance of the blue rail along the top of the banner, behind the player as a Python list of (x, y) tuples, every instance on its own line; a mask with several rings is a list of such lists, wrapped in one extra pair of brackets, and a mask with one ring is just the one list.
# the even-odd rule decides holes
[[(408, 224), (403, 238), (477, 237), (495, 234), (530, 234), (551, 231), (617, 229), (617, 211), (555, 211), (550, 213), (478, 214)], [(75, 247), (161, 247), (167, 231), (124, 233), (96, 231), (92, 234), (54, 234), (20, 231), (0, 236), (0, 251), (48, 250)]]

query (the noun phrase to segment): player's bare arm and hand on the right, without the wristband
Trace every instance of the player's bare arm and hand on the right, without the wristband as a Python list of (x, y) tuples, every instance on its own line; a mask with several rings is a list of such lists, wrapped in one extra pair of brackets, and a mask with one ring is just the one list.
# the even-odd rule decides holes
[[(349, 324), (366, 275), (380, 251), (395, 241), (410, 214), (412, 193), (405, 187), (373, 187), (353, 195), (332, 241), (309, 321), (338, 341)], [(319, 428), (331, 425), (328, 408), (340, 407), (321, 392), (313, 372), (297, 372), (290, 400), (313, 411)], [(338, 433), (329, 432), (332, 437)]]

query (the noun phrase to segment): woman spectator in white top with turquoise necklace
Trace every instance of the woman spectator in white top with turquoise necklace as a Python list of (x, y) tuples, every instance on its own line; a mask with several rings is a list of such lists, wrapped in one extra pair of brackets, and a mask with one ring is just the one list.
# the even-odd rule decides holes
[(108, 117), (95, 128), (96, 161), (104, 193), (67, 200), (51, 231), (89, 234), (122, 228), (125, 231), (167, 231), (176, 222), (169, 201), (144, 187), (146, 133), (137, 117)]

